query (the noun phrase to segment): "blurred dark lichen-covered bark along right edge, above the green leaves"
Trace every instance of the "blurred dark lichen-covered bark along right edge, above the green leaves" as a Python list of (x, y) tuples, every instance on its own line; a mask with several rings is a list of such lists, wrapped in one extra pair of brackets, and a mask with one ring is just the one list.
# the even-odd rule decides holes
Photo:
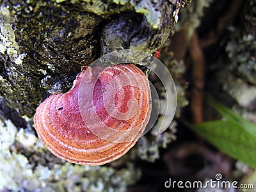
[(228, 60), (225, 67), (221, 67), (218, 77), (223, 84), (223, 90), (236, 100), (240, 108), (255, 111), (256, 2), (247, 2), (241, 12), (243, 14), (241, 14), (238, 23), (243, 23), (243, 26), (246, 27), (238, 28), (235, 24), (230, 26), (228, 42), (225, 46)]

